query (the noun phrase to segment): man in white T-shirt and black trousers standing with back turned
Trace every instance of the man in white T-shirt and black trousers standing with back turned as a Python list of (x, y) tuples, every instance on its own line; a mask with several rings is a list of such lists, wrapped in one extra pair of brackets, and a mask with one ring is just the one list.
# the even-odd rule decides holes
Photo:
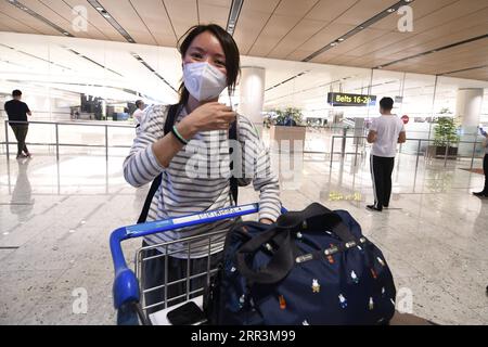
[(383, 98), (380, 101), (381, 117), (374, 118), (368, 134), (371, 150), (371, 176), (373, 179), (374, 204), (368, 209), (382, 211), (389, 205), (391, 196), (391, 172), (395, 167), (397, 143), (407, 141), (403, 121), (391, 114), (394, 101)]

